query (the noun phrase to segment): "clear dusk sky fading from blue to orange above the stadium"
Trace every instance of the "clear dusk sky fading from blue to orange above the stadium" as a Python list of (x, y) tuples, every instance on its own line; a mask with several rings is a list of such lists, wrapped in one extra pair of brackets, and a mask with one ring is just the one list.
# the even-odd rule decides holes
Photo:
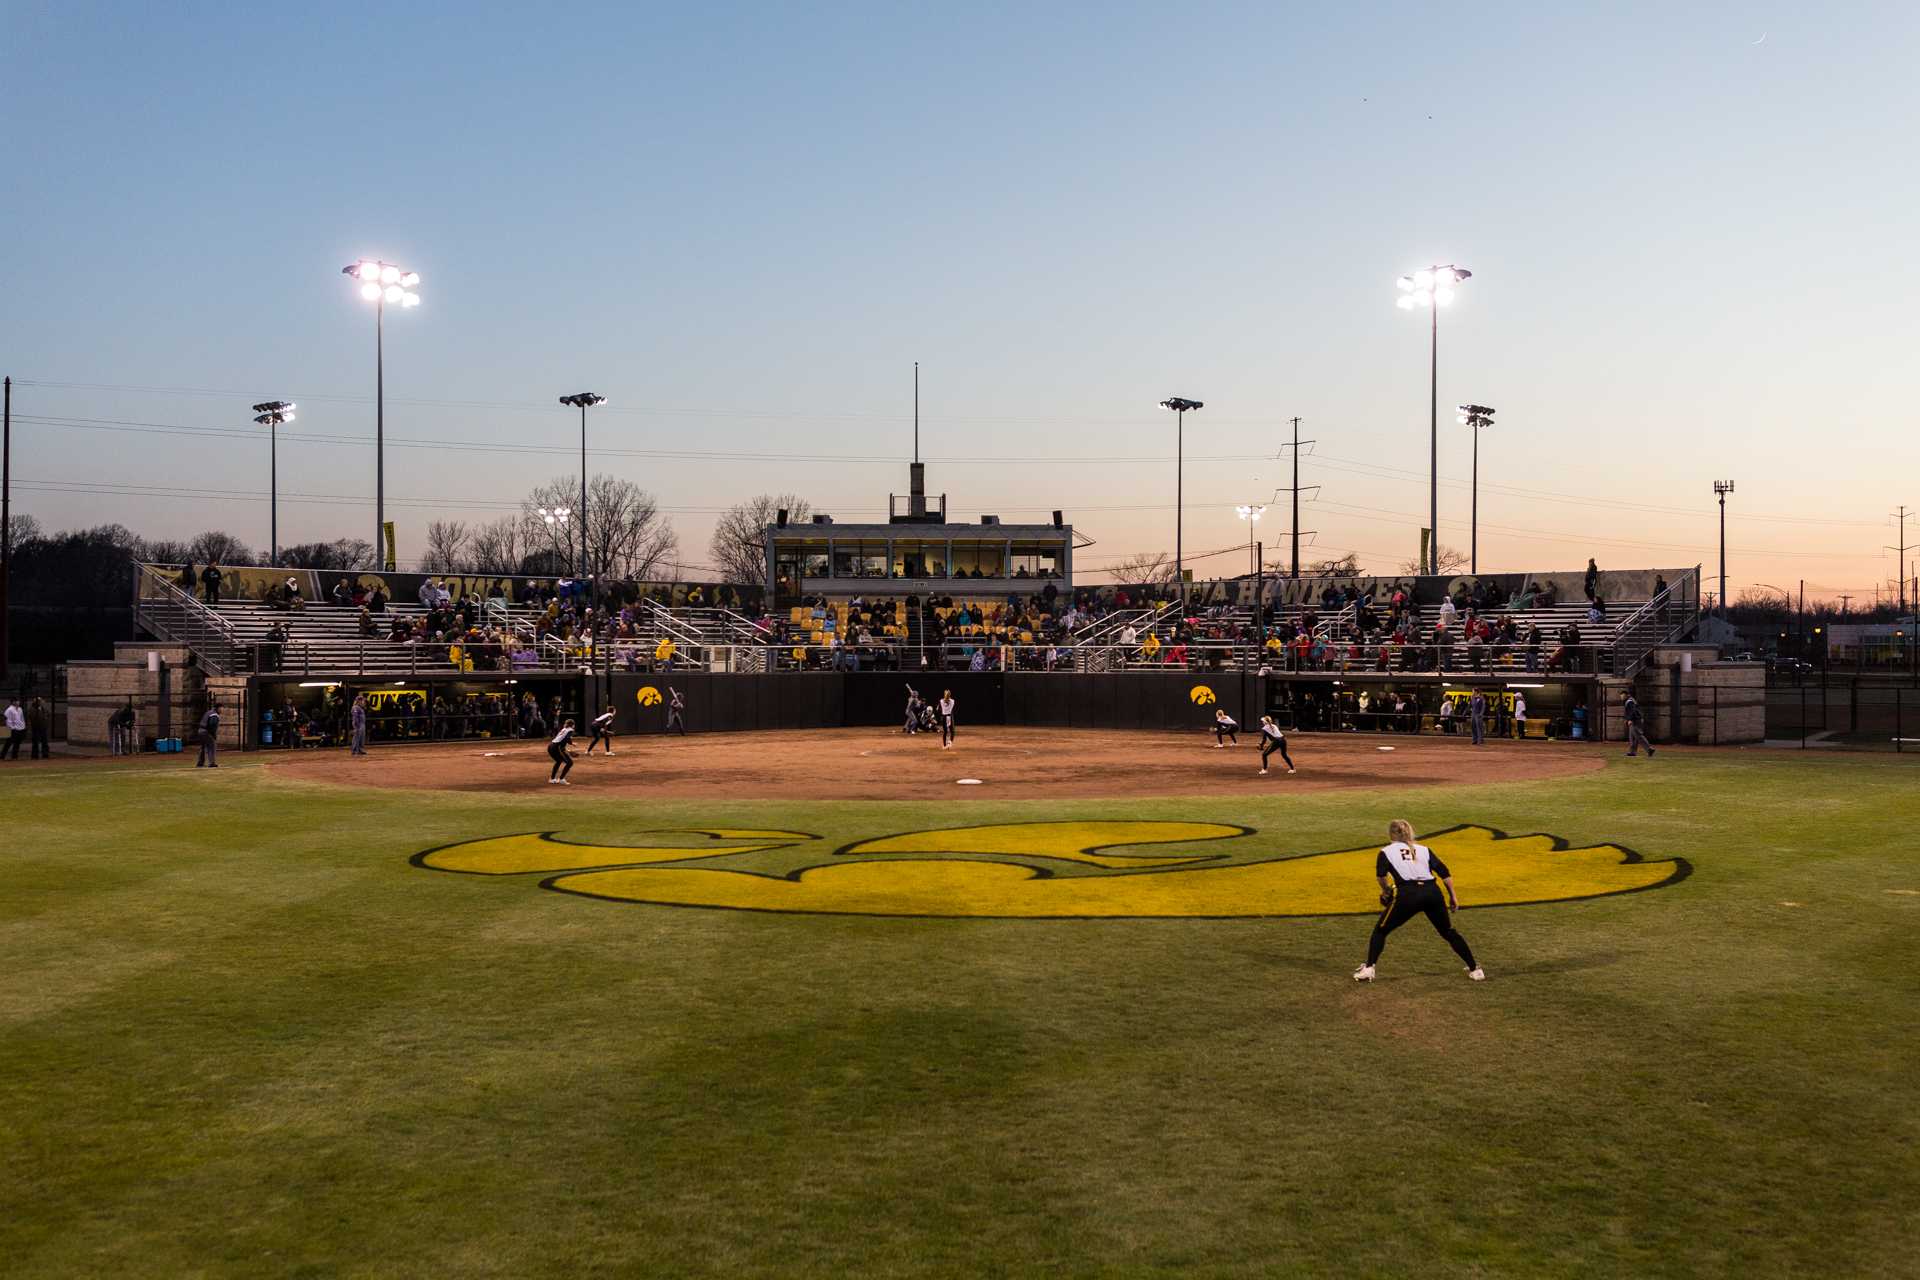
[[(1116, 557), (1244, 547), (1300, 415), (1313, 558), (1682, 566), (1870, 601), (1920, 505), (1920, 8), (4, 6), (15, 510), (267, 543), (486, 520), (578, 468), (714, 514), (929, 487)], [(438, 443), (422, 443), (438, 441)], [(1920, 518), (1908, 520), (1920, 541)], [(1261, 524), (1283, 543), (1284, 510)], [(1920, 551), (1912, 553), (1920, 557)], [(1192, 558), (1240, 572), (1244, 551)], [(1711, 583), (1709, 583), (1711, 585)]]

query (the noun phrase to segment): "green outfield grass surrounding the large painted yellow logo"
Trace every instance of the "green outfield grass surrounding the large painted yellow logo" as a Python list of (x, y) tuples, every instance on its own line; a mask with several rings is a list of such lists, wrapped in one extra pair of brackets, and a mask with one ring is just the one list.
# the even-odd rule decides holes
[[(1044, 810), (0, 768), (10, 1276), (1920, 1270), (1912, 760)], [(1473, 908), (1455, 864), (1490, 981), (1415, 921), (1359, 986), (1369, 915), (787, 915), (409, 865), (1068, 818), (1309, 854), (1394, 816), (1692, 873)]]

